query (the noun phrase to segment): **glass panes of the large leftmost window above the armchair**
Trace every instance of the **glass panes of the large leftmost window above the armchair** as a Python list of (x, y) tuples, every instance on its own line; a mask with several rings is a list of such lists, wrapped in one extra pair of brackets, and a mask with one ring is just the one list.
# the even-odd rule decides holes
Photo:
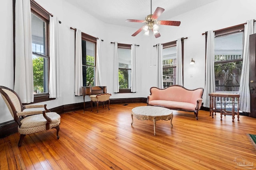
[(31, 13), (34, 94), (48, 92), (47, 22)]

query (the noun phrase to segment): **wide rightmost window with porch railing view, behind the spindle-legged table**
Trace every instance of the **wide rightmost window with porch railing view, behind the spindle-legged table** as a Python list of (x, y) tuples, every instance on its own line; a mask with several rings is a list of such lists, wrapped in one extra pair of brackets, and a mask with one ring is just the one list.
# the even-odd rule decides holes
[(244, 25), (215, 31), (214, 70), (216, 91), (238, 92), (243, 59)]

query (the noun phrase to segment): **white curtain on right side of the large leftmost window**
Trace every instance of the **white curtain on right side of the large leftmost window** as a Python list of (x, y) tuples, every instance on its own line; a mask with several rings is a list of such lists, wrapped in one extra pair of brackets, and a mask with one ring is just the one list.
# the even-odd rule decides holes
[(59, 62), (59, 25), (58, 18), (53, 16), (50, 17), (49, 98), (60, 97)]

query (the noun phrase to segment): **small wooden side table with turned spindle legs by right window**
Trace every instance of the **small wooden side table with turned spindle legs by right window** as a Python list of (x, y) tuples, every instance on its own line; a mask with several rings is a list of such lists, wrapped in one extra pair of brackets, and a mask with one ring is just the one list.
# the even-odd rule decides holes
[[(237, 107), (237, 121), (239, 121), (239, 94), (235, 93), (210, 93), (210, 115), (212, 115), (213, 118), (213, 112), (220, 111), (220, 120), (222, 120), (222, 114), (224, 116), (226, 115), (232, 115), (232, 122), (234, 122), (235, 118), (235, 98), (237, 98), (238, 107)], [(220, 97), (220, 109), (216, 108), (216, 97)], [(224, 101), (224, 108), (222, 108), (222, 98), (232, 98), (232, 111), (226, 110), (226, 100)]]

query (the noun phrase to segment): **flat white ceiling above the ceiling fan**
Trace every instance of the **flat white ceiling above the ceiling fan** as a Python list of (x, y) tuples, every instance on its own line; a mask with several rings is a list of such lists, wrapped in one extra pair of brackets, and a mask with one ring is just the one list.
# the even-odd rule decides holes
[[(66, 0), (106, 23), (138, 27), (142, 23), (125, 22), (126, 19), (144, 20), (150, 14), (150, 0)], [(165, 11), (158, 18), (169, 20), (174, 16), (204, 6), (216, 0), (152, 0), (152, 13), (157, 7)]]

